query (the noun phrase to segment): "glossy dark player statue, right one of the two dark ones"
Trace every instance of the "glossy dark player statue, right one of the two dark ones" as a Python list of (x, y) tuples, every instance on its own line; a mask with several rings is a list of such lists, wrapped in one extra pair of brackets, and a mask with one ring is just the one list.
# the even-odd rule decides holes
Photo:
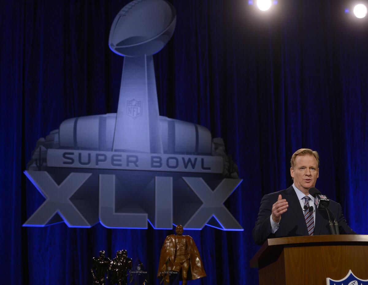
[(107, 279), (111, 284), (127, 285), (128, 270), (132, 268), (132, 259), (128, 257), (127, 251), (118, 250), (116, 257), (111, 261), (107, 274)]

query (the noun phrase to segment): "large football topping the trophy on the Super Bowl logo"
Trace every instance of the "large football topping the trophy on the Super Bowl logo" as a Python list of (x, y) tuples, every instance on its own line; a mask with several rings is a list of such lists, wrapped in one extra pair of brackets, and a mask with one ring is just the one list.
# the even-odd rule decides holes
[(160, 51), (176, 25), (175, 8), (165, 0), (134, 0), (120, 10), (111, 26), (110, 49), (138, 57)]

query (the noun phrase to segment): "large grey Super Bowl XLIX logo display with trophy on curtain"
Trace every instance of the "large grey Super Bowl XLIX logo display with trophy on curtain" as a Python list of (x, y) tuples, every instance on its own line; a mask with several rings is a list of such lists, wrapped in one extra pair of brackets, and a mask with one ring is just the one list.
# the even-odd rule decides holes
[(24, 226), (243, 230), (223, 205), (242, 181), (223, 140), (159, 115), (152, 54), (175, 25), (164, 0), (121, 9), (109, 36), (124, 56), (117, 113), (67, 119), (38, 140), (25, 174), (45, 202)]

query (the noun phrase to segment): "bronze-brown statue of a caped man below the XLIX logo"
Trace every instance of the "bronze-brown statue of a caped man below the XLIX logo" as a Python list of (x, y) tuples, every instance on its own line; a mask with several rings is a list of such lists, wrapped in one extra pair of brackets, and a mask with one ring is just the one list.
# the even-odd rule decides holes
[(160, 254), (160, 262), (157, 277), (162, 278), (162, 273), (167, 271), (167, 262), (172, 261), (172, 271), (177, 271), (183, 280), (194, 280), (206, 276), (201, 256), (199, 255), (194, 240), (189, 235), (183, 235), (183, 226), (178, 225), (175, 229), (176, 235), (166, 237)]

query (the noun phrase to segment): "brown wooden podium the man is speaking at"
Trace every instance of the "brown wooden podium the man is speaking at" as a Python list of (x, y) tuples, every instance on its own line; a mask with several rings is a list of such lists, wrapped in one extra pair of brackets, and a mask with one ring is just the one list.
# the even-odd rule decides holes
[(326, 285), (349, 269), (368, 279), (368, 235), (316, 235), (270, 238), (250, 261), (259, 285)]

